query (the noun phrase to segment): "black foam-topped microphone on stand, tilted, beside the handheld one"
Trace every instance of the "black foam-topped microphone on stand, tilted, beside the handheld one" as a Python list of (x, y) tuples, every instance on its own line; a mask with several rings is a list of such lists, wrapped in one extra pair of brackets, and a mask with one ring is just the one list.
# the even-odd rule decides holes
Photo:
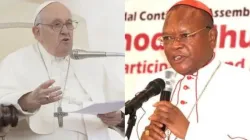
[(132, 100), (125, 103), (125, 115), (134, 113), (144, 102), (148, 101), (149, 98), (160, 94), (164, 88), (164, 80), (157, 78), (151, 81), (143, 91), (139, 92)]

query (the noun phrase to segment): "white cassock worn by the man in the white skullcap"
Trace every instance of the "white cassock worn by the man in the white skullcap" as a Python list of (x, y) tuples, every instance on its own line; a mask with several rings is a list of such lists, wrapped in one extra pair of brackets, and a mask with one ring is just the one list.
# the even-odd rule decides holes
[[(68, 62), (68, 57), (55, 58), (40, 44), (22, 48), (1, 62), (0, 102), (14, 104), (25, 118), (8, 133), (8, 140), (111, 139), (108, 126), (97, 116), (69, 114), (64, 117), (63, 128), (59, 128), (57, 118), (53, 117), (58, 102), (43, 105), (33, 114), (22, 111), (17, 104), (23, 94), (33, 91), (49, 77), (55, 79), (54, 85), (61, 86), (63, 90)], [(98, 59), (70, 60), (63, 111), (74, 111), (90, 102), (124, 100), (124, 83), (112, 73)]]

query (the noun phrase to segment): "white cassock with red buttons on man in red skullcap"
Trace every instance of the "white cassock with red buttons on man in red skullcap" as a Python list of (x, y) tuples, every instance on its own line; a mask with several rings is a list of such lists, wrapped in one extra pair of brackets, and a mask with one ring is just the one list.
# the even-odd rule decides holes
[[(141, 84), (135, 91), (144, 89), (156, 78), (164, 79), (166, 71), (139, 80), (137, 83)], [(176, 74), (171, 102), (190, 121), (186, 140), (250, 140), (249, 83), (249, 71), (224, 64), (217, 57), (193, 75)], [(149, 124), (148, 118), (155, 109), (153, 104), (159, 99), (153, 97), (143, 105), (146, 115), (140, 122), (137, 120), (140, 136)], [(137, 118), (142, 113), (138, 110)], [(136, 131), (132, 136), (133, 140), (138, 139)], [(170, 140), (175, 139), (172, 134)]]

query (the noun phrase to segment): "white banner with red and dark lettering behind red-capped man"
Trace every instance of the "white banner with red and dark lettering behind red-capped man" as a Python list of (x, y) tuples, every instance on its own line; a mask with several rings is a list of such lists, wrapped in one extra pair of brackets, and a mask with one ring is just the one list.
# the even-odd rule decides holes
[[(125, 8), (125, 83), (129, 100), (135, 96), (139, 79), (170, 67), (163, 47), (156, 41), (162, 31), (165, 12), (176, 0), (127, 0)], [(249, 0), (202, 0), (214, 14), (218, 29), (216, 55), (231, 65), (250, 67)], [(148, 81), (150, 82), (150, 81)], [(223, 84), (223, 83), (221, 83)], [(145, 85), (146, 86), (146, 85)], [(143, 90), (143, 89), (141, 89)], [(141, 114), (137, 114), (137, 121)], [(148, 122), (141, 122), (148, 124)], [(144, 128), (140, 127), (139, 134)], [(132, 140), (137, 140), (136, 127)]]

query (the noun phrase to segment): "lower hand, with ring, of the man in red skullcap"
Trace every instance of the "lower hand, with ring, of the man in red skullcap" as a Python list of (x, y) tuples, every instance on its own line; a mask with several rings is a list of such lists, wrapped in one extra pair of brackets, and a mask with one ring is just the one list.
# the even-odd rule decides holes
[(166, 134), (161, 130), (162, 124), (151, 122), (142, 134), (141, 140), (165, 140)]

